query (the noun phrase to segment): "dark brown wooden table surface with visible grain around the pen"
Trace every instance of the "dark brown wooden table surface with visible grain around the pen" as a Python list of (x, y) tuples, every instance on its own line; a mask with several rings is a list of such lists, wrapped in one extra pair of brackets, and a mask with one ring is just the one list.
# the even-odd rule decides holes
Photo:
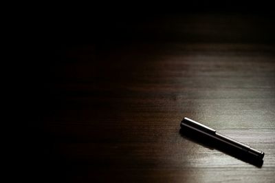
[[(30, 123), (38, 127), (27, 146), (36, 180), (274, 182), (272, 23), (154, 17), (125, 34), (107, 30), (102, 41), (58, 45), (55, 61), (43, 65), (44, 111)], [(264, 151), (263, 166), (182, 136), (184, 117)]]

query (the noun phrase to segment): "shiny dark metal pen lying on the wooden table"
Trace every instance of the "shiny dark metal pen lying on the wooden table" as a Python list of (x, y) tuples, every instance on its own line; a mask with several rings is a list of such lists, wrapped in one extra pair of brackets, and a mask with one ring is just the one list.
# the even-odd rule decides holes
[(243, 144), (241, 142), (238, 142), (236, 140), (233, 140), (231, 138), (223, 136), (220, 133), (217, 133), (216, 130), (211, 129), (210, 127), (207, 127), (206, 125), (202, 125), (201, 123), (196, 122), (195, 120), (191, 120), (189, 118), (184, 118), (181, 121), (181, 127), (187, 127), (189, 129), (195, 130), (199, 133), (203, 133), (204, 135), (209, 136), (210, 138), (214, 138), (215, 140), (218, 140), (219, 142), (225, 143), (226, 145), (228, 145), (230, 147), (235, 147), (237, 149), (240, 149), (241, 151), (244, 151), (245, 153), (254, 155), (254, 156), (256, 156), (256, 158), (263, 159), (263, 156), (265, 155), (265, 153), (263, 151), (256, 150), (246, 144)]

